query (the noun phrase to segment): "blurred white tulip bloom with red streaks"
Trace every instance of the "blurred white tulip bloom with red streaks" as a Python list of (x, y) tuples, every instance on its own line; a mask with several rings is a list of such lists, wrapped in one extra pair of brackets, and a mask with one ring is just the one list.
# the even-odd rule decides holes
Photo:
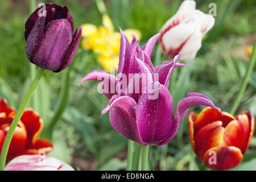
[(160, 30), (159, 43), (163, 53), (174, 57), (181, 51), (180, 60), (195, 58), (204, 35), (213, 25), (212, 15), (196, 10), (195, 1), (184, 1)]

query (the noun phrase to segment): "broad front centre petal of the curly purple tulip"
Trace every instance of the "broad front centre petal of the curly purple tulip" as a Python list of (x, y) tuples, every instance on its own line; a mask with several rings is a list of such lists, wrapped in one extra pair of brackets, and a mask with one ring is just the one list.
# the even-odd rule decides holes
[(138, 101), (138, 126), (144, 143), (159, 145), (173, 130), (174, 109), (168, 89), (159, 84), (159, 95), (150, 99), (150, 94), (142, 94)]

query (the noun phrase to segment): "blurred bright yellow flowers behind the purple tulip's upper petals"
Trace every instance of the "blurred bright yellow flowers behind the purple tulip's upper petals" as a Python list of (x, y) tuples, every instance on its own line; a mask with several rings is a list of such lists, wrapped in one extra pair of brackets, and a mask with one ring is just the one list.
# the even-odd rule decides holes
[[(139, 30), (127, 29), (123, 31), (129, 41), (135, 35), (141, 39)], [(118, 68), (120, 33), (114, 31), (112, 20), (107, 14), (102, 16), (102, 26), (96, 27), (94, 24), (82, 25), (82, 48), (92, 49), (98, 53), (98, 63), (110, 72), (110, 69)]]

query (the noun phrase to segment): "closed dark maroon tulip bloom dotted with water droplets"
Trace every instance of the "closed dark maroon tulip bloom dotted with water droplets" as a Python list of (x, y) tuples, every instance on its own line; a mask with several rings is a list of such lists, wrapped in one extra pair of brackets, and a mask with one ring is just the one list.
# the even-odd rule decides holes
[(25, 24), (27, 58), (38, 67), (60, 72), (73, 62), (82, 26), (73, 35), (73, 17), (67, 6), (46, 4), (42, 15), (41, 11), (42, 7), (36, 9)]

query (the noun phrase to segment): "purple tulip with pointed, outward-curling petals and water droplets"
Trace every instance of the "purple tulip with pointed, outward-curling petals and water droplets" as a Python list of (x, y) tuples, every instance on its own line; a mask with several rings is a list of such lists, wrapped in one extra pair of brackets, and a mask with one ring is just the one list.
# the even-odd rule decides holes
[[(152, 85), (154, 91), (158, 92), (157, 98), (150, 99), (149, 96), (152, 96), (153, 93), (143, 93), (141, 92), (142, 90), (139, 93), (118, 93), (117, 90), (111, 93), (110, 91), (113, 90), (104, 89), (104, 94), (110, 98), (110, 102), (102, 111), (102, 114), (110, 111), (110, 123), (115, 131), (130, 140), (140, 143), (142, 146), (147, 144), (159, 146), (174, 138), (179, 129), (180, 120), (187, 114), (191, 106), (206, 105), (217, 109), (212, 101), (203, 94), (188, 93), (187, 97), (177, 105), (175, 117), (172, 97), (168, 91), (169, 78), (174, 68), (186, 64), (176, 63), (180, 57), (179, 53), (173, 61), (164, 61), (162, 65), (154, 67), (150, 57), (158, 38), (159, 34), (156, 34), (140, 48), (135, 37), (129, 43), (121, 30), (118, 68), (118, 73), (124, 75), (144, 73), (147, 76), (147, 85)], [(158, 80), (154, 75), (158, 75)], [(99, 79), (99, 77), (104, 79)], [(118, 77), (105, 71), (93, 71), (85, 76), (81, 82), (86, 80), (100, 80), (105, 84), (114, 84), (115, 86), (121, 82)], [(127, 81), (129, 88), (133, 80), (129, 78)], [(137, 86), (143, 88), (143, 84), (140, 81)]]

